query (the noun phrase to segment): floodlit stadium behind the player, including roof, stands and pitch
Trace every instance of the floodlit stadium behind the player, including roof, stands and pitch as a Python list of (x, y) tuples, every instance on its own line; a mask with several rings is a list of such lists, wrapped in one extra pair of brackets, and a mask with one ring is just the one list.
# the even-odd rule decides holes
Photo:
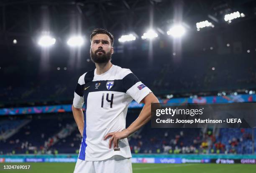
[[(72, 104), (79, 76), (95, 69), (95, 28), (113, 34), (111, 62), (139, 90), (210, 114), (171, 124), (151, 104), (151, 121), (128, 136), (133, 173), (256, 172), (256, 1), (1, 0), (0, 14), (0, 172), (74, 172)], [(128, 105), (126, 128), (143, 106)]]

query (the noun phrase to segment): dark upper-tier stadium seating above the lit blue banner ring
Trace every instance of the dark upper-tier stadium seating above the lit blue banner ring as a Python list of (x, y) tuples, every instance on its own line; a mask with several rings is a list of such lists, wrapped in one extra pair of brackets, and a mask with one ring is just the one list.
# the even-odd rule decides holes
[[(18, 47), (15, 49), (17, 50), (13, 51), (13, 57), (26, 57), (26, 50)], [(168, 60), (169, 51), (163, 51), (157, 47), (154, 48), (154, 57), (151, 61), (148, 60), (147, 50), (141, 51), (137, 48), (133, 54), (130, 53), (131, 55), (126, 51), (124, 53), (128, 58), (125, 58), (123, 53), (116, 53), (113, 56), (113, 64), (131, 69), (156, 95), (255, 89), (256, 86), (255, 61), (248, 53), (218, 55), (218, 58), (215, 54), (206, 52), (184, 53), (177, 64), (173, 60)], [(241, 56), (246, 59), (243, 66), (237, 65), (244, 62)], [(31, 61), (36, 63), (37, 60), (31, 59)], [(51, 68), (49, 71), (41, 72), (36, 69), (36, 66), (31, 66), (30, 71), (36, 71), (33, 74), (26, 70), (19, 74), (18, 71), (15, 72), (17, 70), (15, 68), (9, 69), (10, 72), (6, 72), (5, 80), (0, 86), (0, 102), (8, 105), (72, 101), (79, 76), (88, 70), (95, 69), (95, 65), (87, 62), (87, 59), (81, 61), (83, 66), (67, 67), (67, 70), (61, 67), (60, 70)], [(212, 67), (215, 67), (215, 70), (212, 70)], [(12, 80), (13, 73), (16, 74), (15, 82)]]

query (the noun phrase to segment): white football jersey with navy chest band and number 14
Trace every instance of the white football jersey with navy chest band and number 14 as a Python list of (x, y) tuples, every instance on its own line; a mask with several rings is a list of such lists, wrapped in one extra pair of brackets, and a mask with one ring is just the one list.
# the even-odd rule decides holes
[(73, 105), (84, 111), (84, 131), (78, 158), (98, 161), (121, 155), (131, 158), (127, 138), (118, 141), (118, 148), (109, 148), (109, 140), (103, 138), (110, 132), (125, 129), (128, 105), (134, 99), (141, 100), (151, 93), (130, 69), (112, 65), (104, 74), (96, 69), (80, 76), (74, 92)]

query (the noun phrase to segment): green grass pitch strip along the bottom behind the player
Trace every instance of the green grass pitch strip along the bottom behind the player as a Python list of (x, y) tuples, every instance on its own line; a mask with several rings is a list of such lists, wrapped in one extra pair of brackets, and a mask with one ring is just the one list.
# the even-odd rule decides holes
[[(31, 165), (29, 170), (4, 170), (4, 165)], [(0, 163), (1, 173), (73, 173), (75, 163)], [(133, 164), (133, 173), (256, 173), (256, 165)]]

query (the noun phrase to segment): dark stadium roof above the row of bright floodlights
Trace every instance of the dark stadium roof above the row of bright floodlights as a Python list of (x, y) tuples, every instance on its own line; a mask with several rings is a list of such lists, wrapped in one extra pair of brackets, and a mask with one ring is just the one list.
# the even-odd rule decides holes
[(88, 33), (93, 28), (141, 34), (151, 26), (166, 32), (172, 23), (181, 21), (194, 29), (203, 20), (218, 27), (225, 23), (225, 14), (238, 10), (248, 20), (255, 18), (255, 7), (253, 0), (1, 0), (0, 44), (46, 29), (58, 35), (70, 30)]

